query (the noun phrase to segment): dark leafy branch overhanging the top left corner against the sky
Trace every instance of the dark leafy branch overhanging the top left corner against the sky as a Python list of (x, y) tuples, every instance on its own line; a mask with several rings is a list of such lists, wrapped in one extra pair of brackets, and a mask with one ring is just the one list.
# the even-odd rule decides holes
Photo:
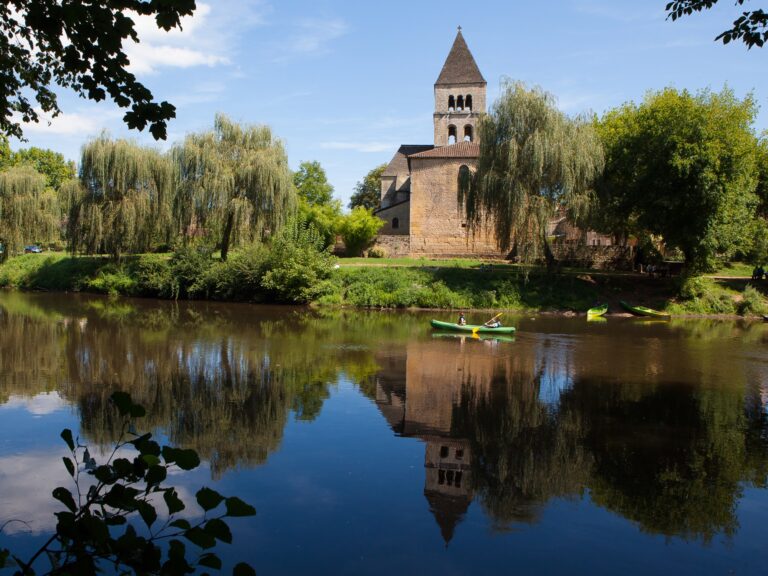
[(0, 4), (0, 132), (23, 137), (22, 121), (61, 113), (53, 85), (95, 101), (111, 98), (127, 108), (129, 128), (165, 139), (176, 116), (156, 102), (128, 71), (125, 41), (139, 42), (134, 17), (154, 17), (157, 27), (180, 27), (195, 0), (7, 0)]

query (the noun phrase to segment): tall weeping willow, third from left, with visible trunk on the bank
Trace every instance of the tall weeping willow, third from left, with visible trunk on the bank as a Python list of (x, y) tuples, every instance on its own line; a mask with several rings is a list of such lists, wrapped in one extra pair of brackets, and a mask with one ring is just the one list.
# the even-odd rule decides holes
[(177, 224), (185, 238), (213, 236), (222, 260), (230, 247), (268, 237), (296, 210), (285, 149), (268, 126), (240, 125), (219, 114), (213, 130), (188, 135), (173, 157)]

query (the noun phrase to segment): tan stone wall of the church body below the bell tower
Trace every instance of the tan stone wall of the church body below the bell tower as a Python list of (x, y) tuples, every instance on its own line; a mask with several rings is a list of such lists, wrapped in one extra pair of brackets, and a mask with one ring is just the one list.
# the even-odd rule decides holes
[(489, 232), (471, 237), (459, 206), (458, 174), (473, 158), (411, 159), (411, 254), (418, 256), (502, 256)]

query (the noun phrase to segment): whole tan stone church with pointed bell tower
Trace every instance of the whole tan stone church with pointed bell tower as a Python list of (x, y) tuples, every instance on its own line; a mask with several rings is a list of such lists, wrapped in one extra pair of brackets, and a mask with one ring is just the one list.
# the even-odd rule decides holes
[(434, 143), (403, 144), (381, 177), (376, 245), (387, 256), (503, 256), (490, 233), (468, 232), (457, 200), (459, 172), (477, 163), (486, 86), (459, 28), (435, 82)]

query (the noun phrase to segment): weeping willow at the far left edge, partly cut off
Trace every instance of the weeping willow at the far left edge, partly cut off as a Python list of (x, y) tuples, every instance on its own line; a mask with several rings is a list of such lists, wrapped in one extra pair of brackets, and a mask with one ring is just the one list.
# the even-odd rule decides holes
[(56, 192), (30, 166), (0, 172), (0, 261), (31, 242), (59, 239), (61, 220)]

